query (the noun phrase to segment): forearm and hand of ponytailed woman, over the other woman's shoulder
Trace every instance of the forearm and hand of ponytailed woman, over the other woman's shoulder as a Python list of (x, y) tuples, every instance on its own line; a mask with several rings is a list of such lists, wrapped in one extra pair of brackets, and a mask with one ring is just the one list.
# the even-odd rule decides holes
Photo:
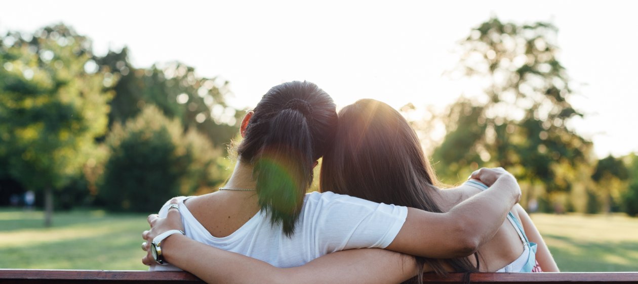
[(514, 176), (500, 176), (489, 189), (473, 195), (448, 212), (452, 220), (461, 222), (463, 237), (476, 248), (494, 237), (507, 213), (518, 202), (519, 186)]

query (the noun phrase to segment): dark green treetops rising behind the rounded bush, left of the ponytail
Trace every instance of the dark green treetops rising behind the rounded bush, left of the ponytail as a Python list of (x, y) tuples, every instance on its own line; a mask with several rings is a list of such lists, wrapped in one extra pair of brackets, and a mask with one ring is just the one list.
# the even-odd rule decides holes
[(115, 91), (110, 125), (124, 123), (152, 104), (166, 117), (178, 118), (184, 129), (205, 134), (215, 146), (228, 143), (237, 133), (243, 114), (226, 104), (227, 81), (200, 77), (195, 68), (180, 62), (138, 69), (128, 60), (128, 48), (95, 60), (101, 71), (118, 78), (108, 86)]

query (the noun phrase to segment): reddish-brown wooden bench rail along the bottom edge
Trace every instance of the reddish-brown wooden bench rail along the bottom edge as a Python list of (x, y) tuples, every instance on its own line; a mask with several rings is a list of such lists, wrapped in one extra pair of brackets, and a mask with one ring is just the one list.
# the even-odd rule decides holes
[[(463, 274), (425, 274), (424, 281), (462, 283)], [(473, 273), (472, 283), (638, 283), (638, 273)], [(204, 283), (184, 271), (0, 269), (0, 283)]]

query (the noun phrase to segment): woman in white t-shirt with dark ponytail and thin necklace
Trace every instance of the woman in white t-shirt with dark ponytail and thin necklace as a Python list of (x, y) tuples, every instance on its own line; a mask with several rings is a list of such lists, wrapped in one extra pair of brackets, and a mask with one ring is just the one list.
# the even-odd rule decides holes
[[(333, 192), (304, 194), (316, 160), (334, 147), (337, 129), (334, 104), (316, 85), (291, 82), (273, 87), (242, 121), (244, 140), (225, 187), (212, 194), (175, 199), (160, 211), (163, 216), (178, 209), (182, 214), (179, 227), (197, 244), (171, 245), (173, 240), (188, 243), (188, 238), (177, 230), (161, 231), (162, 224), (169, 223), (151, 215), (149, 222), (158, 226), (144, 232), (149, 242), (143, 247), (153, 253), (144, 263), (169, 262), (193, 272), (195, 268), (182, 265), (177, 256), (202, 260), (212, 246), (278, 267), (300, 266), (352, 248), (385, 248), (431, 258), (465, 257), (491, 239), (520, 195), (516, 180), (498, 170), (484, 170), (478, 176), (490, 180), (486, 181), (490, 190), (445, 213)], [(198, 247), (201, 243), (206, 245)], [(407, 270), (413, 274), (413, 269)]]

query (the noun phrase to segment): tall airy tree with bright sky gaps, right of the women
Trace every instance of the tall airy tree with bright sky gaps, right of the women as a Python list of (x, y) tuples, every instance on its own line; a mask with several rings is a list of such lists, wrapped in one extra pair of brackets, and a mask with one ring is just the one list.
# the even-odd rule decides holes
[(443, 178), (502, 166), (550, 195), (570, 190), (573, 169), (590, 159), (591, 143), (566, 126), (582, 114), (568, 101), (574, 92), (556, 59), (555, 38), (548, 23), (491, 18), (461, 43), (460, 70), (486, 87), (482, 97), (459, 99), (443, 119), (447, 135), (433, 155)]

